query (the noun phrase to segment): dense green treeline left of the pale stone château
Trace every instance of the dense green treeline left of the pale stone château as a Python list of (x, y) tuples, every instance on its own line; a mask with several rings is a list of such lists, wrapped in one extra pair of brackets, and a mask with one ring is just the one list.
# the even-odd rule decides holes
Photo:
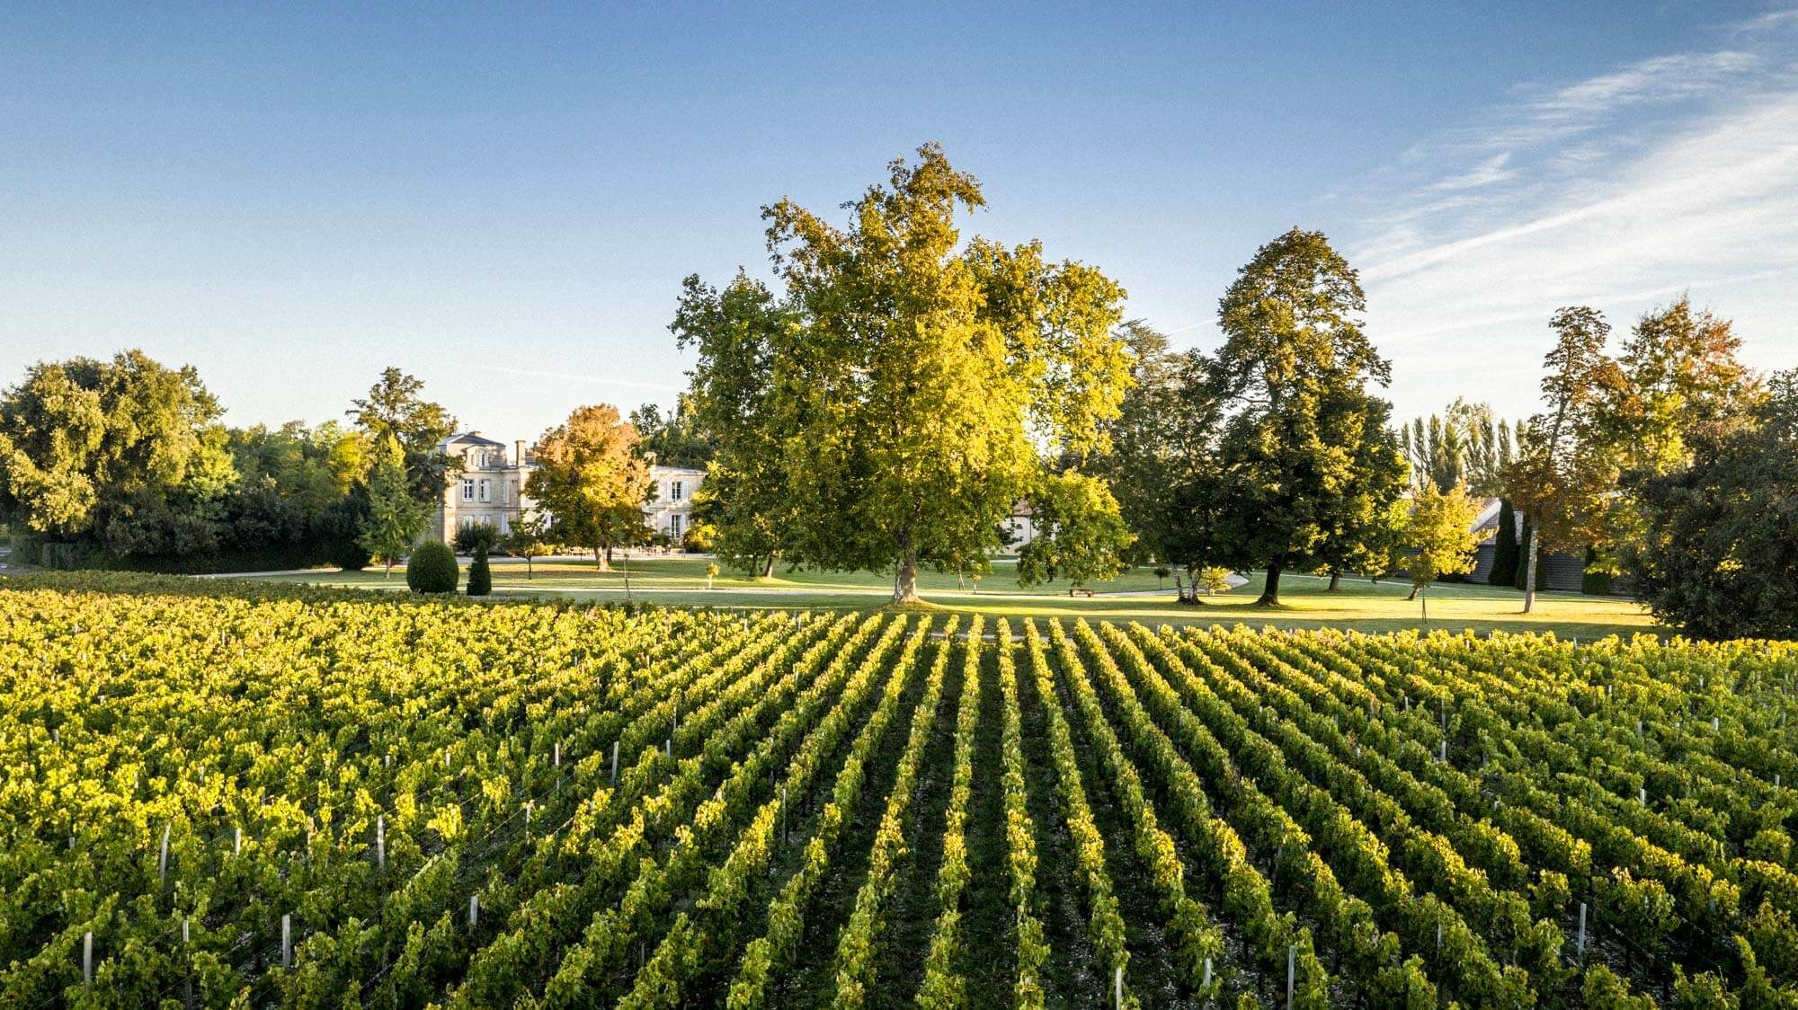
[(0, 395), (0, 519), (49, 568), (361, 568), (399, 550), (369, 546), (376, 519), (401, 514), (403, 548), (442, 491), (455, 419), (421, 392), (388, 368), (349, 424), (228, 428), (192, 367), (40, 363)]

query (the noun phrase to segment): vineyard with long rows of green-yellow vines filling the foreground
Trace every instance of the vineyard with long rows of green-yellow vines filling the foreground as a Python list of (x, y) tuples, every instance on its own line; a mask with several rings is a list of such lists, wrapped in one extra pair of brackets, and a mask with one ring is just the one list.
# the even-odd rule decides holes
[(1794, 674), (0, 591), (0, 1006), (1798, 1006)]

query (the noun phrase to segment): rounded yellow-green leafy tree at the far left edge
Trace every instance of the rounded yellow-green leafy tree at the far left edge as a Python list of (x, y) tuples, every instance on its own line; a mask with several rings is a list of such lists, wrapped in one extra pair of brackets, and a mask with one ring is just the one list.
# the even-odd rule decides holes
[(122, 557), (216, 546), (237, 474), (191, 367), (142, 350), (40, 363), (0, 395), (0, 518)]

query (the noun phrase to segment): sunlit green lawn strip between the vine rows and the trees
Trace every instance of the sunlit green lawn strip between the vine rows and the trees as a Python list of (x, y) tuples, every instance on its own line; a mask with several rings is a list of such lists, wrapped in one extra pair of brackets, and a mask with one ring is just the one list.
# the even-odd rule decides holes
[[(874, 609), (892, 595), (890, 577), (870, 571), (777, 571), (770, 579), (725, 573), (707, 589), (705, 559), (658, 557), (631, 563), (631, 597), (671, 606), (779, 607), (779, 609)], [(268, 575), (268, 580), (405, 589), (401, 570), (383, 579), (370, 571), (316, 571), (306, 575)], [(1629, 600), (1584, 597), (1579, 593), (1539, 593), (1535, 613), (1525, 615), (1523, 595), (1512, 589), (1473, 584), (1437, 584), (1429, 589), (1429, 624), (1420, 620), (1417, 602), (1406, 602), (1410, 586), (1370, 584), (1343, 579), (1336, 593), (1325, 580), (1287, 575), (1280, 580), (1280, 607), (1259, 607), (1262, 577), (1230, 593), (1210, 597), (1201, 606), (1174, 602), (1172, 582), (1149, 570), (1136, 570), (1113, 582), (1095, 586), (1091, 598), (1070, 598), (1064, 582), (1019, 588), (1014, 564), (994, 563), (994, 571), (980, 589), (957, 586), (955, 575), (921, 573), (919, 591), (930, 604), (960, 611), (1010, 618), (1086, 616), (1095, 620), (1140, 620), (1144, 624), (1246, 624), (1251, 627), (1352, 627), (1366, 633), (1406, 629), (1553, 631), (1561, 636), (1602, 638), (1606, 634), (1660, 633), (1645, 607)], [(593, 564), (550, 561), (536, 564), (536, 577), (525, 577), (523, 564), (493, 566), (493, 591), (507, 597), (559, 597), (574, 600), (622, 600), (624, 571), (597, 571)], [(1113, 595), (1113, 593), (1158, 595)]]

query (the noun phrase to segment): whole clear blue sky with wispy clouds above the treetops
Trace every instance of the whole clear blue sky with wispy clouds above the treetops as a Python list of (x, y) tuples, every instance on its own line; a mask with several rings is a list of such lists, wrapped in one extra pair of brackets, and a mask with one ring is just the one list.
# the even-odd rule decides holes
[(680, 279), (924, 140), (985, 185), (964, 234), (1181, 345), (1322, 228), (1401, 417), (1532, 410), (1570, 302), (1688, 289), (1798, 365), (1780, 4), (370, 7), (0, 13), (0, 383), (142, 347), (232, 422), (324, 421), (392, 363), (502, 439), (671, 403)]

